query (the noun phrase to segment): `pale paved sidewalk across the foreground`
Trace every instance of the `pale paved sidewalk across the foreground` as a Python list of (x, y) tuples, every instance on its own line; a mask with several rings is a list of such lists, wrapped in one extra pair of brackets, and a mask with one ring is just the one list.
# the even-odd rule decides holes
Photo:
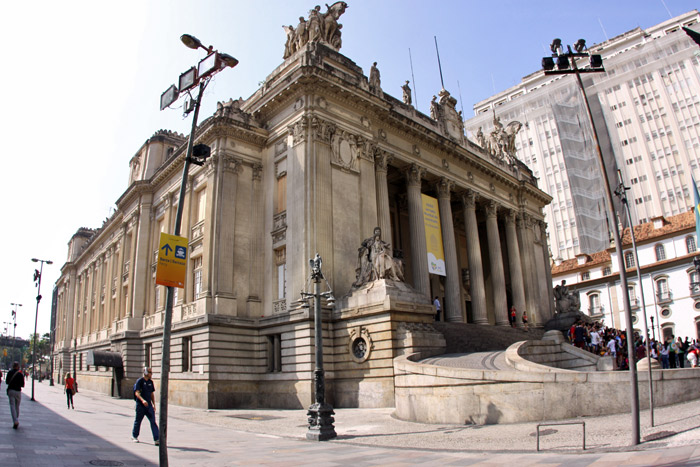
[[(12, 429), (2, 385), (0, 465), (158, 465), (144, 420), (141, 442), (130, 440), (131, 400), (81, 390), (75, 410), (61, 386), (31, 381), (24, 388), (20, 427)], [(700, 465), (700, 402), (657, 409), (655, 427), (641, 414), (643, 443), (630, 443), (630, 415), (582, 419), (581, 426), (541, 429), (535, 423), (464, 426), (409, 423), (393, 409), (336, 410), (338, 438), (307, 441), (305, 410), (169, 408), (170, 465)]]

